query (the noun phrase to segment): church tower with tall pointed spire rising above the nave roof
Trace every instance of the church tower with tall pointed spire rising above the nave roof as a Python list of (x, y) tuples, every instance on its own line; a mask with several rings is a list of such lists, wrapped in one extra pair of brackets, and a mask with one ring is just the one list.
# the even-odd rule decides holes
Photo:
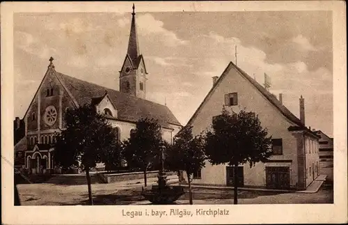
[(133, 4), (132, 24), (125, 61), (120, 70), (120, 92), (134, 95), (137, 98), (146, 96), (146, 72), (143, 55), (139, 51), (136, 34), (135, 7)]

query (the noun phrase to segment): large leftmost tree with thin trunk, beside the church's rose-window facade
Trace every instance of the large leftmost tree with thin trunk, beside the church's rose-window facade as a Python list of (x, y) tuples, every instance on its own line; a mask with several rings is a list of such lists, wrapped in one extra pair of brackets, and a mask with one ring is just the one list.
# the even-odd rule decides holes
[(118, 149), (116, 129), (91, 105), (67, 111), (65, 128), (57, 137), (55, 162), (64, 168), (79, 166), (86, 171), (88, 197), (90, 205), (93, 205), (89, 172), (106, 158), (111, 149)]

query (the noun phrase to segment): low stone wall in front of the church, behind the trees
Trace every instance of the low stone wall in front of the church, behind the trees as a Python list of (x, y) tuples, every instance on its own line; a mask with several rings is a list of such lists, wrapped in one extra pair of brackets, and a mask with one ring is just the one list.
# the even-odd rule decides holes
[[(167, 176), (171, 176), (174, 174), (176, 173), (166, 172)], [(143, 179), (144, 173), (143, 172), (113, 173), (113, 174), (103, 174), (103, 176), (106, 176), (107, 183), (115, 183), (115, 182), (124, 181), (124, 180)], [(148, 171), (146, 173), (147, 178), (156, 178), (157, 176), (158, 176), (158, 171)]]

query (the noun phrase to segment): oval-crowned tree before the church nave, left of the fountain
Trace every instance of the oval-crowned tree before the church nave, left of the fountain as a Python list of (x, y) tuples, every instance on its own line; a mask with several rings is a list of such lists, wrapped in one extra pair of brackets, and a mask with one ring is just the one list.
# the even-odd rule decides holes
[(161, 142), (161, 126), (152, 118), (139, 119), (131, 137), (123, 141), (125, 160), (130, 168), (143, 171), (145, 187), (147, 186), (146, 172), (158, 162)]

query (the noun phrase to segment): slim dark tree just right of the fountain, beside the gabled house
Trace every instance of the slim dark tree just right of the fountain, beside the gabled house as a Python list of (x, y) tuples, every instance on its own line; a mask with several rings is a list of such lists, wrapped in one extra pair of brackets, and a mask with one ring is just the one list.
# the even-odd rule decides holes
[(193, 173), (205, 166), (205, 153), (203, 150), (203, 137), (193, 137), (192, 127), (187, 125), (175, 137), (173, 146), (168, 151), (168, 168), (173, 171), (186, 171), (189, 181), (190, 205), (192, 201), (191, 178)]

